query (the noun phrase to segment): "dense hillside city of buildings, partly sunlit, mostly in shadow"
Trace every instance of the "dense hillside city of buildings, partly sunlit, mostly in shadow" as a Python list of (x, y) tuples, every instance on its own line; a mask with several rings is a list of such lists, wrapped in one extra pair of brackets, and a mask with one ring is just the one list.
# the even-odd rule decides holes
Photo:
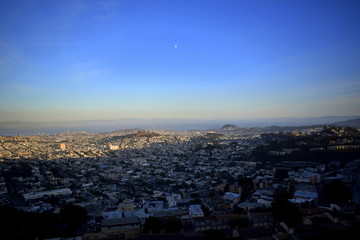
[(3, 136), (0, 161), (9, 239), (359, 236), (355, 128)]

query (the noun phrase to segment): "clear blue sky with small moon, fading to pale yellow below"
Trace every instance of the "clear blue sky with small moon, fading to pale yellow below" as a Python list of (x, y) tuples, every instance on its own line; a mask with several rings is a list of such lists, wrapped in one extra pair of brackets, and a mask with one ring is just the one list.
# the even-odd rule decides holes
[(360, 115), (360, 1), (0, 0), (0, 121)]

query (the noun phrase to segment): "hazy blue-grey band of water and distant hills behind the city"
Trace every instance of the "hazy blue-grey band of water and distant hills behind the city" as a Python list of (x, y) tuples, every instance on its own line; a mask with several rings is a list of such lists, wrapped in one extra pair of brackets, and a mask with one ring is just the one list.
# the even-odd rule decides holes
[(63, 122), (0, 122), (0, 135), (38, 135), (66, 132), (101, 133), (125, 129), (153, 130), (212, 130), (225, 124), (237, 127), (296, 127), (333, 124), (345, 120), (358, 119), (360, 116), (324, 116), (319, 118), (268, 118), (268, 119), (116, 119)]

